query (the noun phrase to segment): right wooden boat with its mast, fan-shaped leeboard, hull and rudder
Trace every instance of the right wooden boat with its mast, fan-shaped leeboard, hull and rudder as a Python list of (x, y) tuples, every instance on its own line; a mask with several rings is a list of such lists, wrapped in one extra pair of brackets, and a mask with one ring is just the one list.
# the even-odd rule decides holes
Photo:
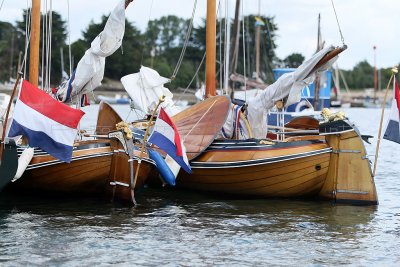
[[(292, 132), (284, 141), (264, 139), (209, 140), (206, 127), (195, 127), (208, 113), (226, 118), (230, 100), (215, 96), (215, 1), (208, 1), (206, 101), (172, 119), (184, 136), (193, 173), (181, 171), (181, 189), (247, 197), (314, 197), (336, 202), (377, 204), (377, 193), (366, 150), (357, 128), (350, 122), (318, 125), (314, 135)], [(335, 49), (316, 64), (322, 66), (343, 49)], [(268, 90), (268, 89), (266, 89)], [(218, 108), (213, 111), (214, 103)], [(211, 120), (211, 119), (210, 119)], [(311, 119), (313, 125), (314, 121)], [(261, 121), (260, 123), (265, 123)], [(292, 126), (304, 127), (304, 125)], [(306, 125), (307, 126), (307, 125)], [(221, 130), (219, 122), (213, 132)], [(202, 144), (202, 145), (200, 145)], [(204, 149), (206, 148), (206, 149)]]

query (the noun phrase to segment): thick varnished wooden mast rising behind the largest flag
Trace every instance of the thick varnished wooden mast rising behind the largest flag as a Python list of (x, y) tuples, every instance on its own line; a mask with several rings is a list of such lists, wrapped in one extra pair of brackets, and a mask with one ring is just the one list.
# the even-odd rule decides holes
[(34, 86), (39, 82), (39, 46), (40, 46), (40, 0), (32, 0), (32, 25), (29, 54), (29, 81)]

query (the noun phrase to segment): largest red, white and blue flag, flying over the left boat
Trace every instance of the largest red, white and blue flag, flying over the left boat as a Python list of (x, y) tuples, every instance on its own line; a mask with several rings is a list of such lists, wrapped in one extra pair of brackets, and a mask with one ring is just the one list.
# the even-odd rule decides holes
[(24, 80), (8, 136), (23, 135), (31, 147), (71, 162), (77, 127), (84, 114)]

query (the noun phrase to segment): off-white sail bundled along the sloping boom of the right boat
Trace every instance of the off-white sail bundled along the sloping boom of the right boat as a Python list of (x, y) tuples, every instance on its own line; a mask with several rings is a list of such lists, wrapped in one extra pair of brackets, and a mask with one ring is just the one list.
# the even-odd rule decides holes
[(332, 66), (337, 56), (321, 67), (314, 69), (319, 61), (334, 49), (333, 46), (329, 46), (320, 50), (301, 64), (294, 72), (283, 74), (276, 82), (264, 89), (261, 94), (248, 101), (248, 120), (255, 138), (265, 138), (267, 133), (267, 112), (278, 100), (287, 97), (286, 107), (299, 102), (302, 89), (314, 81), (317, 73), (326, 71)]

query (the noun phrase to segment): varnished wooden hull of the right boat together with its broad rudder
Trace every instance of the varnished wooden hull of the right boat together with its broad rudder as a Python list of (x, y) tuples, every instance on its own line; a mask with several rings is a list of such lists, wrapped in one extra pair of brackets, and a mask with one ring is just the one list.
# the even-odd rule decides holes
[(316, 197), (376, 205), (366, 150), (354, 125), (320, 125), (321, 135), (295, 136), (262, 145), (259, 140), (214, 142), (180, 172), (180, 188), (251, 197)]

